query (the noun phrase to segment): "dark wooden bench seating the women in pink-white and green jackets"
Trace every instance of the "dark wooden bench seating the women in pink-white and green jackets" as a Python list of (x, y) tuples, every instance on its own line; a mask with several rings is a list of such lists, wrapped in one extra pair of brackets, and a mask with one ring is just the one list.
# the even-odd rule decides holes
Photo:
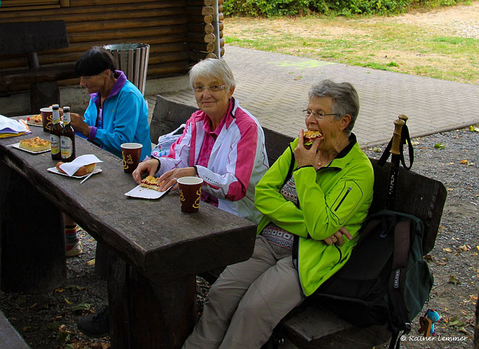
[[(157, 96), (155, 110), (150, 123), (152, 142), (158, 136), (176, 129), (184, 123), (195, 107), (183, 105), (162, 96)], [(284, 152), (293, 138), (263, 128), (265, 147), (270, 165)], [(391, 125), (391, 135), (393, 128)], [(369, 213), (375, 213), (386, 207), (386, 192), (391, 164), (381, 167), (376, 159), (371, 159), (374, 167), (374, 197)], [(399, 171), (398, 187), (407, 190), (396, 192), (395, 209), (421, 218), (426, 232), (425, 253), (430, 251), (438, 232), (442, 209), (446, 198), (446, 189), (438, 180), (433, 180), (412, 171)], [(209, 282), (214, 282), (221, 270), (202, 274)], [(341, 348), (367, 349), (386, 343), (391, 333), (386, 326), (368, 328), (353, 327), (332, 312), (320, 309), (306, 301), (284, 318), (282, 333), (298, 348)]]

